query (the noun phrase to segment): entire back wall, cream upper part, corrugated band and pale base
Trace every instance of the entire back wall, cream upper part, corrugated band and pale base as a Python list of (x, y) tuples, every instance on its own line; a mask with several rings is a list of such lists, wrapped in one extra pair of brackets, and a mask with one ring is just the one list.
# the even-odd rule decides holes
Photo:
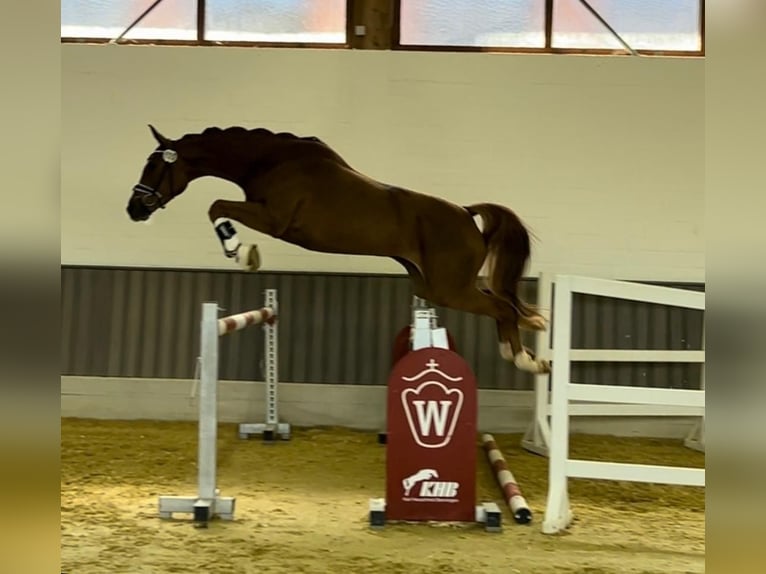
[[(506, 204), (537, 237), (525, 287), (532, 297), (541, 271), (704, 289), (703, 64), (62, 45), (62, 415), (193, 418), (187, 359), (196, 353), (202, 298), (240, 310), (259, 300), (262, 288), (277, 286), (285, 309), (300, 309), (285, 329), (289, 337), (281, 338), (289, 365), (281, 371), (283, 414), (296, 425), (382, 424), (391, 335), (406, 322), (410, 297), (402, 270), (387, 260), (311, 253), (242, 230), (264, 258), (264, 274), (246, 289), (248, 280), (223, 258), (207, 220), (214, 199), (239, 197), (231, 184), (195, 182), (149, 225), (127, 218), (130, 187), (154, 147), (146, 124), (170, 137), (212, 125), (317, 135), (382, 181), (458, 203)], [(349, 277), (358, 299), (339, 299), (334, 289)], [(289, 295), (290, 285), (301, 282)], [(333, 296), (343, 305), (330, 309)], [(608, 347), (629, 332), (643, 334), (650, 347), (676, 348), (701, 337), (698, 318), (596, 307), (582, 308), (581, 340)], [(479, 371), (484, 428), (522, 430), (531, 414), (530, 377), (497, 357), (490, 322), (442, 316), (468, 343), (467, 358)], [(363, 331), (362, 321), (371, 330)], [(332, 328), (343, 335), (328, 337)], [(321, 349), (312, 351), (309, 343), (318, 340)], [(247, 351), (247, 342), (232, 344), (237, 348), (223, 349), (229, 359), (221, 416), (241, 422), (262, 408), (253, 383), (260, 380), (253, 372), (258, 352)], [(583, 368), (599, 380), (639, 383), (647, 372), (640, 365)], [(657, 386), (698, 380), (693, 368), (652, 369)], [(593, 432), (682, 436), (691, 421), (577, 424)]]

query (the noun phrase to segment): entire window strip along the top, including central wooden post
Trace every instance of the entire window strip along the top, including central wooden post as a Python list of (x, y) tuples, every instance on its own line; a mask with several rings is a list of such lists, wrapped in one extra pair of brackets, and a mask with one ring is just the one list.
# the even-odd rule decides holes
[(705, 51), (704, 6), (704, 0), (61, 0), (61, 38), (696, 56)]

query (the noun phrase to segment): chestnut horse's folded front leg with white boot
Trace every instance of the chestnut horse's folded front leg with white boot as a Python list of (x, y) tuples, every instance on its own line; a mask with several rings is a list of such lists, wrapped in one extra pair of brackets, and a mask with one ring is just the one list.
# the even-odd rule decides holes
[(231, 220), (271, 235), (273, 225), (264, 206), (246, 201), (219, 199), (210, 206), (208, 216), (221, 242), (224, 255), (233, 258), (245, 271), (256, 271), (261, 266), (258, 246), (242, 243)]

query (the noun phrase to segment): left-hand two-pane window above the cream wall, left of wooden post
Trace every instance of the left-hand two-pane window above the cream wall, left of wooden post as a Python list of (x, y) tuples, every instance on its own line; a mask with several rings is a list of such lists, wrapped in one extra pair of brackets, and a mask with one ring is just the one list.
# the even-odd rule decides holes
[[(344, 44), (347, 0), (61, 0), (63, 39)], [(198, 10), (203, 13), (198, 18)], [(125, 32), (141, 14), (149, 12)], [(123, 35), (124, 33), (124, 35)]]

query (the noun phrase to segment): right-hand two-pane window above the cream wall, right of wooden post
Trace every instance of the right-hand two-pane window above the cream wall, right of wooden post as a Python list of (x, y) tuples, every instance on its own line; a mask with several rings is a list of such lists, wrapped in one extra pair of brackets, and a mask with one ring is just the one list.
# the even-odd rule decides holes
[(699, 54), (703, 15), (703, 0), (401, 0), (399, 47)]

